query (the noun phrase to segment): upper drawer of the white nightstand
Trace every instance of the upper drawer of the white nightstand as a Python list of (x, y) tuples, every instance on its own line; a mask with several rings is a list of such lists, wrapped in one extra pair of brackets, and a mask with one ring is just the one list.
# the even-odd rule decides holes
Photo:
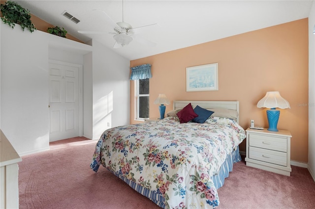
[(266, 135), (258, 135), (250, 133), (250, 144), (251, 147), (259, 147), (268, 150), (275, 150), (285, 152), (287, 151), (286, 138), (273, 137)]

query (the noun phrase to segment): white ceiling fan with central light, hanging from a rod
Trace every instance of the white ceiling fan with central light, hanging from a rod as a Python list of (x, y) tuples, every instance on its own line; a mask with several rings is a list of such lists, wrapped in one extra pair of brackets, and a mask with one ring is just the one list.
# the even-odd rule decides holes
[[(132, 28), (132, 26), (130, 24), (124, 22), (124, 0), (122, 2), (122, 8), (123, 8), (122, 9), (122, 13), (123, 13), (122, 22), (118, 22), (118, 23), (115, 23), (106, 14), (106, 12), (101, 11), (105, 14), (105, 21), (114, 27), (114, 32), (78, 30), (78, 33), (83, 33), (83, 34), (104, 34), (104, 33), (114, 34), (113, 38), (115, 39), (115, 44), (114, 44), (113, 48), (124, 47), (124, 46), (128, 45), (133, 39), (136, 39), (138, 42), (145, 44), (147, 46), (151, 46), (151, 47), (155, 46), (156, 43), (142, 38), (137, 33), (143, 27), (158, 26), (158, 24), (151, 24), (151, 25), (147, 25), (147, 26), (140, 26), (140, 27)], [(97, 9), (95, 9), (95, 10), (97, 10)], [(98, 11), (100, 11), (100, 10), (98, 10)]]

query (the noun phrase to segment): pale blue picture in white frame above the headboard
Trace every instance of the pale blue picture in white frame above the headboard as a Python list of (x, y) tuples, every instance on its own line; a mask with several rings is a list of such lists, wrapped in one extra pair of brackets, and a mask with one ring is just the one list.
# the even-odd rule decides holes
[(218, 63), (186, 68), (186, 91), (215, 91), (218, 88)]

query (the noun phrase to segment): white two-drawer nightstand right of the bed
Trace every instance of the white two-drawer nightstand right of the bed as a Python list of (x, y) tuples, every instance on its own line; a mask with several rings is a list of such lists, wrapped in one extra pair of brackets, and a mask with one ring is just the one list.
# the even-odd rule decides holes
[(290, 176), (291, 133), (286, 130), (246, 130), (246, 165)]

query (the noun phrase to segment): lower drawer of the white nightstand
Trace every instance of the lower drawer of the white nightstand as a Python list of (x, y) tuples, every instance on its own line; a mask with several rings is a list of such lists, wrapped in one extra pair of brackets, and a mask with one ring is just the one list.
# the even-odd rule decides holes
[(284, 152), (249, 147), (249, 158), (287, 166), (287, 155)]

